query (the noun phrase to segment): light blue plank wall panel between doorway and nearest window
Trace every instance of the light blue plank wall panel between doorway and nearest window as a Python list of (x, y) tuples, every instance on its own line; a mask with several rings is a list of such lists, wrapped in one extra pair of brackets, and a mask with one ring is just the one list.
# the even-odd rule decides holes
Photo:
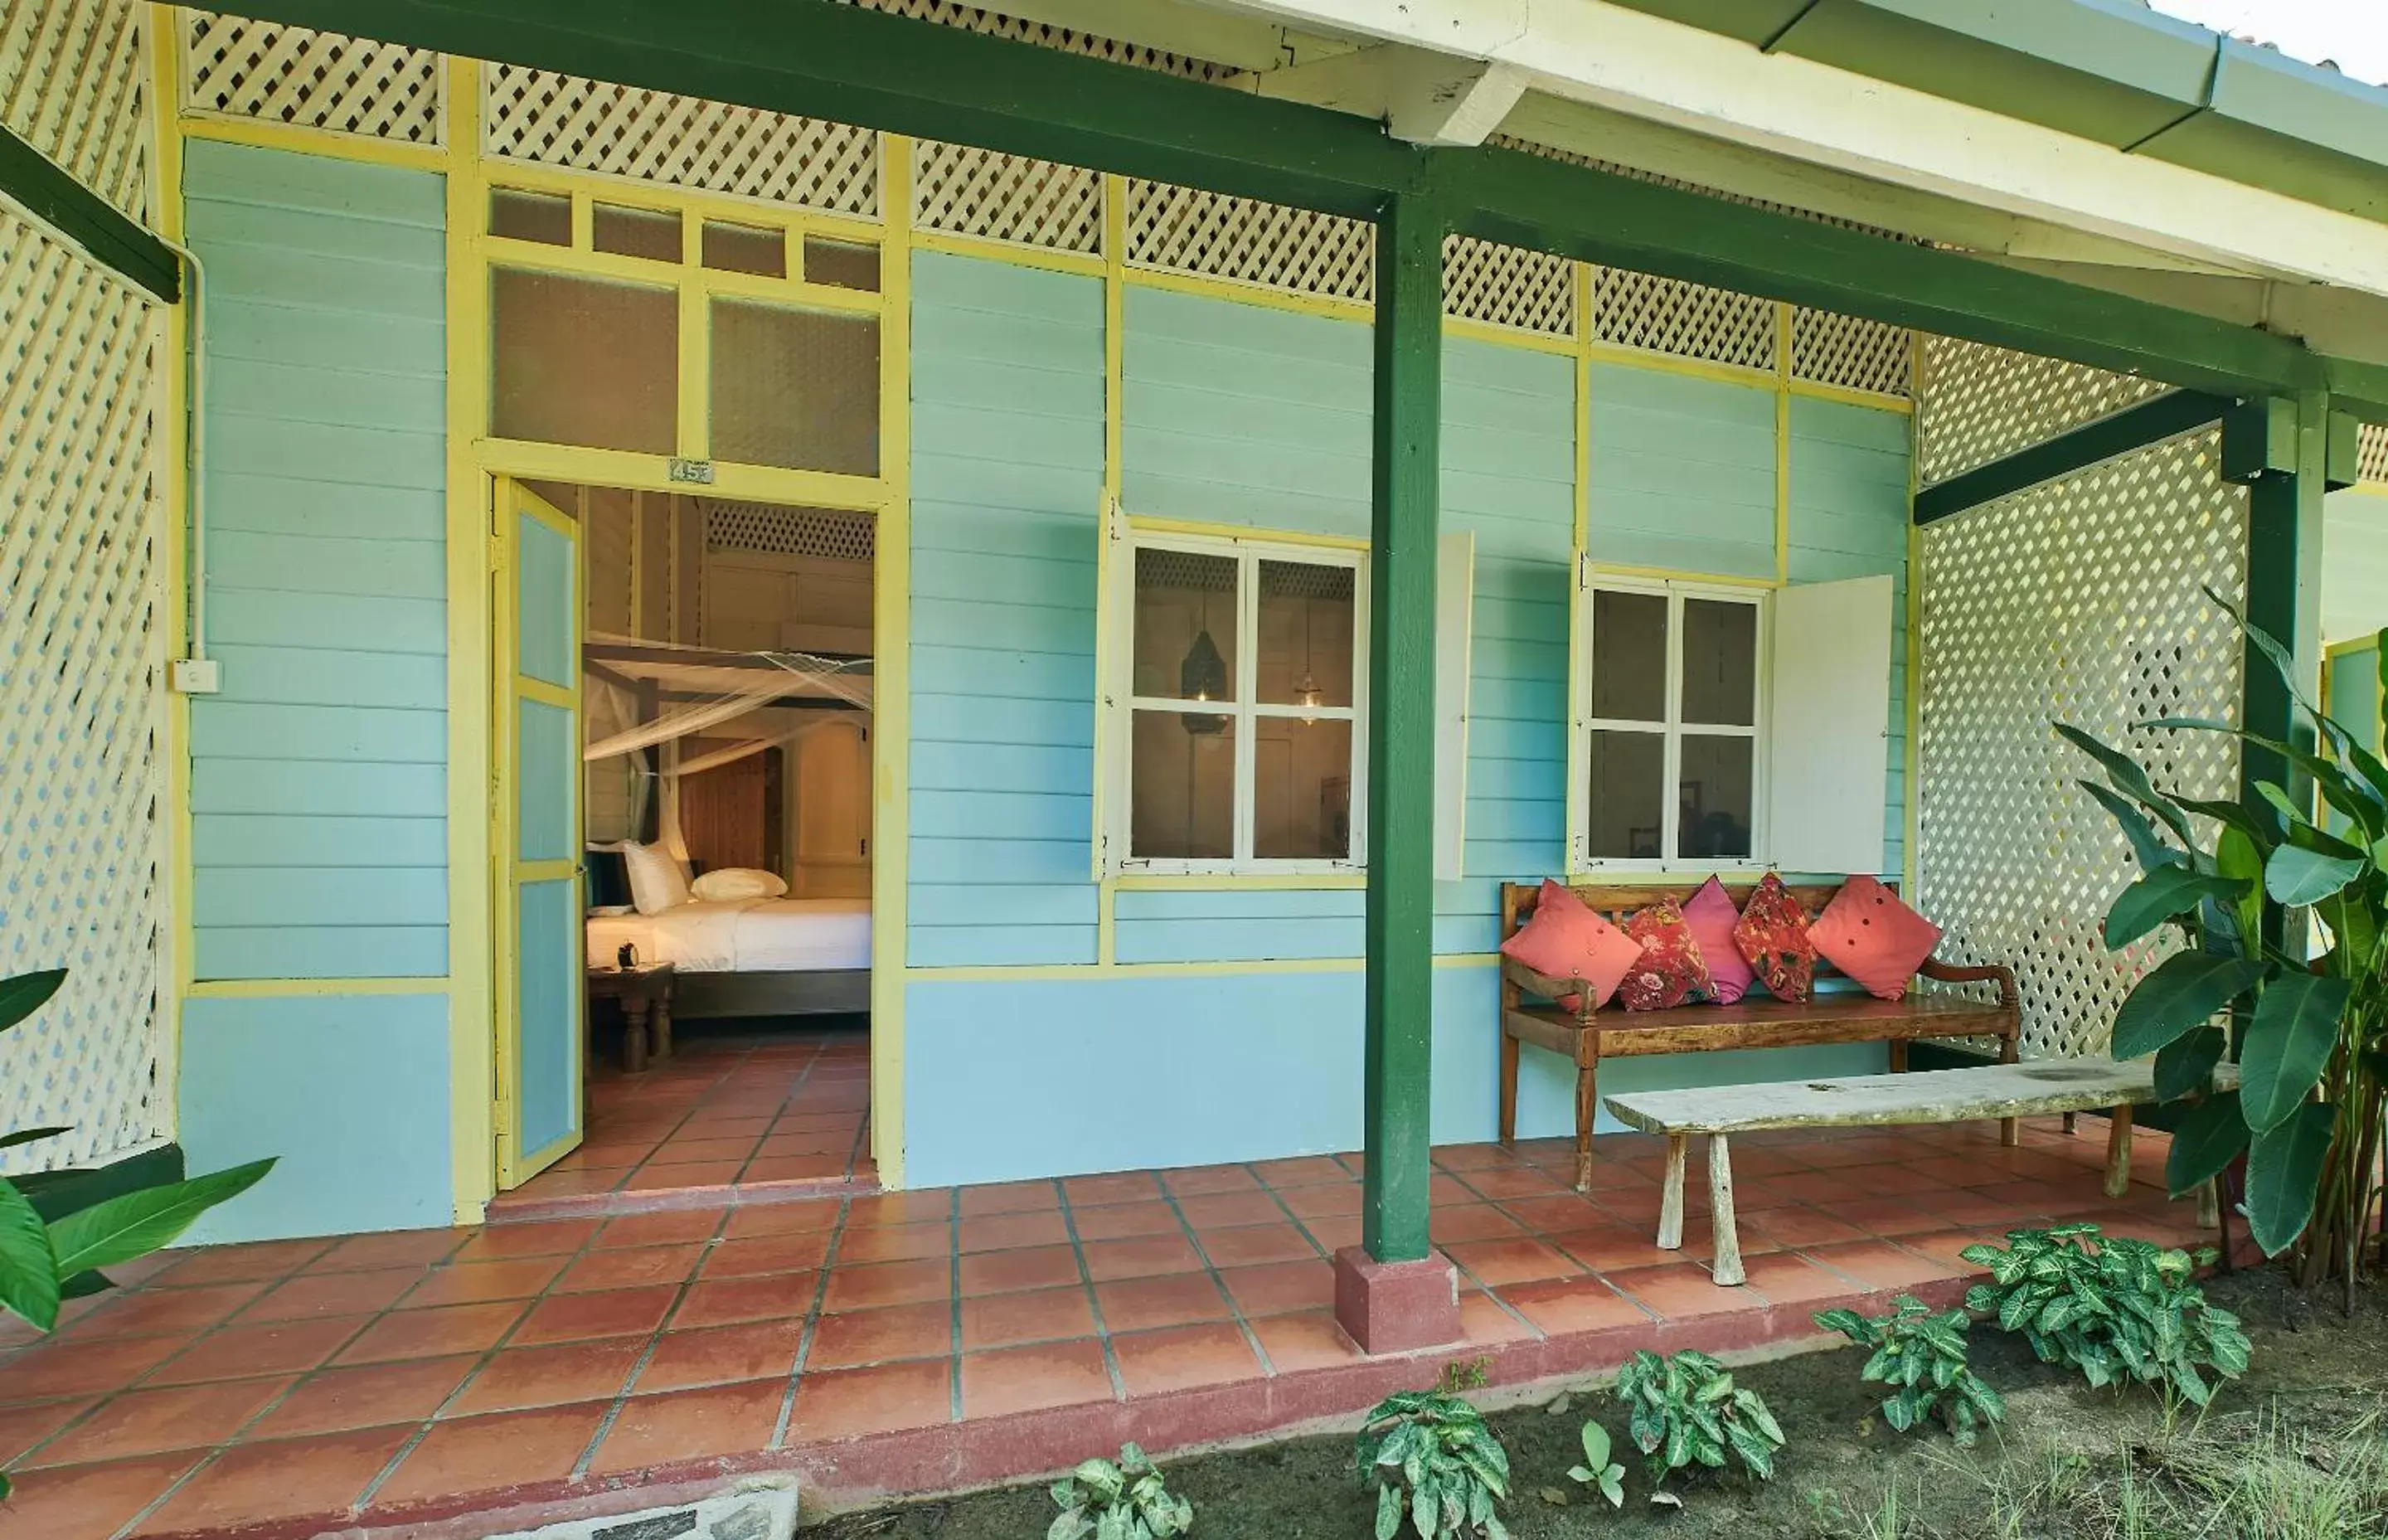
[(915, 967), (1094, 962), (1103, 287), (912, 263)]

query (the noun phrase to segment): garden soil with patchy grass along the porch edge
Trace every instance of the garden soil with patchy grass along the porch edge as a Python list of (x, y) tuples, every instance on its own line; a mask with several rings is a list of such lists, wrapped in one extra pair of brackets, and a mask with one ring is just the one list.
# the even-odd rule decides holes
[[(1879, 1416), (1879, 1394), (1858, 1380), (1860, 1349), (1812, 1351), (1736, 1370), (1781, 1421), (1786, 1447), (1772, 1483), (1700, 1473), (1669, 1483), (1684, 1507), (1648, 1502), (1650, 1480), (1626, 1444), (1624, 1411), (1607, 1380), (1552, 1392), (1540, 1404), (1492, 1413), (1509, 1449), (1512, 1497), (1502, 1509), (1519, 1540), (1722, 1540), (1808, 1535), (1820, 1540), (2090, 1540), (2159, 1533), (2118, 1523), (2132, 1483), (2164, 1480), (2164, 1449), (2183, 1433), (2321, 1428), (2388, 1440), (2388, 1287), (2369, 1287), (2355, 1316), (2328, 1296), (2295, 1292), (2278, 1268), (2209, 1282), (2209, 1296), (2247, 1323), (2254, 1359), (2204, 1423), (2166, 1413), (2152, 1390), (2094, 1392), (2070, 1370), (2039, 1363), (2020, 1337), (1975, 1325), (1972, 1366), (2008, 1399), (2004, 1430), (1972, 1449), (1944, 1433), (1901, 1435)], [(1567, 1478), (1578, 1428), (1600, 1418), (1626, 1464), (1626, 1507), (1610, 1509)], [(1089, 1449), (1089, 1454), (1110, 1454)], [(2340, 1449), (2307, 1452), (2321, 1468)], [(1368, 1540), (1375, 1502), (1352, 1468), (1352, 1437), (1294, 1437), (1249, 1449), (1163, 1461), (1168, 1485), (1194, 1499), (1194, 1540)], [(2388, 1504), (2388, 1497), (2381, 1499)], [(2190, 1502), (2187, 1507), (2197, 1507)], [(2369, 1507), (2369, 1504), (2367, 1504)], [(807, 1540), (1039, 1540), (1055, 1516), (1046, 1483), (970, 1497), (843, 1514)], [(2378, 1533), (2369, 1526), (2328, 1533)], [(2214, 1535), (2242, 1526), (2216, 1523)], [(2269, 1528), (2269, 1526), (2264, 1526)], [(1407, 1535), (1407, 1528), (1404, 1528)]]

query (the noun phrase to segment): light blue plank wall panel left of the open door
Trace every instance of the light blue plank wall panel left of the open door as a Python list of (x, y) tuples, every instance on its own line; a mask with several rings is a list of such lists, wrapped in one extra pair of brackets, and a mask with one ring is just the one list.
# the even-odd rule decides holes
[(208, 270), (201, 979), (447, 972), (439, 177), (193, 141)]

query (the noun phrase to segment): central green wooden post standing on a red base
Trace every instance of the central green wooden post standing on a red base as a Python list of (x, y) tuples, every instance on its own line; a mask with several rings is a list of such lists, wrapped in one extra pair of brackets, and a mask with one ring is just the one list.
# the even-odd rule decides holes
[(1435, 504), (1442, 232), (1426, 193), (1375, 222), (1375, 466), (1368, 535), (1368, 1170), (1361, 1242), (1428, 1253), (1435, 986)]

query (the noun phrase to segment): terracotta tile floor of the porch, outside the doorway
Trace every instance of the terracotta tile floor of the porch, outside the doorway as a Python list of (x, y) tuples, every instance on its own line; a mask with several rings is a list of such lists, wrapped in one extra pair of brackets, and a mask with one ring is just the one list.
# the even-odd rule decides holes
[[(702, 1098), (728, 1072), (688, 1079)], [(633, 1098), (657, 1129), (693, 1105), (664, 1084)], [(860, 1079), (783, 1079), (807, 1084)], [(1359, 1356), (1330, 1313), (1354, 1156), (184, 1251), (48, 1342), (5, 1339), (7, 1528), (623, 1511), (657, 1499), (633, 1476), (747, 1471), (941, 1490), (1352, 1416), (1461, 1351), (1526, 1382), (1798, 1339), (1824, 1299), (1951, 1296), (1958, 1246), (2011, 1225), (2195, 1239), (2149, 1187), (2161, 1136), (2125, 1199), (2099, 1194), (2104, 1127), (2032, 1125), (2015, 1151), (1992, 1125), (1741, 1141), (1741, 1289), (1707, 1277), (1698, 1218), (1684, 1251), (1652, 1246), (1657, 1139), (1602, 1139), (1590, 1196), (1564, 1141), (1442, 1148), (1466, 1344), (1416, 1359)]]

